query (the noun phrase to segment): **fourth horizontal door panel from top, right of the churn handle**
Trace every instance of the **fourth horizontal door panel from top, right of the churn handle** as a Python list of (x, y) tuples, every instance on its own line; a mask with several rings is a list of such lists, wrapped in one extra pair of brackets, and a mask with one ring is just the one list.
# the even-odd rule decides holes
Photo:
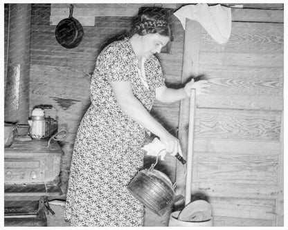
[(276, 185), (278, 184), (278, 166), (278, 154), (232, 155), (230, 153), (195, 152), (192, 178), (194, 182), (225, 183), (228, 181), (251, 185)]

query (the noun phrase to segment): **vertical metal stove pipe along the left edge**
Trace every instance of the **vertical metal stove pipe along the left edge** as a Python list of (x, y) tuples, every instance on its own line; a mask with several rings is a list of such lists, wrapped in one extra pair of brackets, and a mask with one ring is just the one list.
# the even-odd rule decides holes
[(4, 119), (28, 124), (31, 4), (9, 4)]

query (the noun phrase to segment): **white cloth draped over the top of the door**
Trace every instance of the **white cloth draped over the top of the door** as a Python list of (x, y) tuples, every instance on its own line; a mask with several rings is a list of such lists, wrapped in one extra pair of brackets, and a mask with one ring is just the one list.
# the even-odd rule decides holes
[(186, 18), (198, 21), (218, 44), (224, 44), (231, 35), (231, 8), (208, 6), (206, 3), (183, 6), (174, 15), (185, 30)]

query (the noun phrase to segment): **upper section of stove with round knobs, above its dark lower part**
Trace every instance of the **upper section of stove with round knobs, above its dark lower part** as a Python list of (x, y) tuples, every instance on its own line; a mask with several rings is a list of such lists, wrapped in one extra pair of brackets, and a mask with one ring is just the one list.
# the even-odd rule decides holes
[(47, 140), (13, 142), (4, 151), (5, 196), (61, 195), (60, 145)]

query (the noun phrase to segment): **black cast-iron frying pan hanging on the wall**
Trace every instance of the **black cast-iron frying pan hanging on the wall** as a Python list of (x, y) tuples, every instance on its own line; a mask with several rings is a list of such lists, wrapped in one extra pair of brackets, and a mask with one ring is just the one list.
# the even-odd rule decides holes
[(70, 4), (69, 18), (63, 19), (58, 23), (55, 36), (58, 43), (65, 48), (75, 48), (82, 41), (84, 35), (80, 22), (72, 17), (73, 5)]

